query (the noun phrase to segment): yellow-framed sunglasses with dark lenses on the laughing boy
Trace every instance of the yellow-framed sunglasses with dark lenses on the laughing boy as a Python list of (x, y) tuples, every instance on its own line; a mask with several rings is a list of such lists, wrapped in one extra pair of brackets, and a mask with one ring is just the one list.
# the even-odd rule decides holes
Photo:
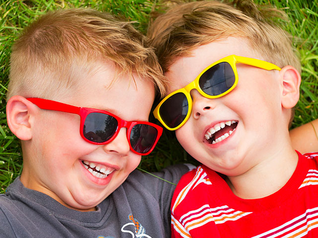
[(265, 70), (281, 70), (275, 64), (236, 55), (227, 56), (206, 67), (191, 83), (176, 90), (161, 100), (154, 116), (168, 130), (180, 128), (192, 112), (192, 89), (206, 98), (220, 98), (231, 92), (238, 84), (236, 63), (244, 63)]

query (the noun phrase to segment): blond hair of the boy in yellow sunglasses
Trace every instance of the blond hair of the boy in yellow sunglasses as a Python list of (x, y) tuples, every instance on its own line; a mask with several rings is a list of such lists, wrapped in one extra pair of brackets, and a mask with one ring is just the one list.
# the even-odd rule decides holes
[(194, 48), (229, 36), (246, 38), (263, 60), (280, 67), (292, 65), (300, 72), (291, 36), (277, 24), (279, 20), (286, 20), (283, 11), (258, 7), (250, 0), (195, 1), (171, 7), (152, 23), (148, 36), (164, 72), (175, 57), (189, 56)]

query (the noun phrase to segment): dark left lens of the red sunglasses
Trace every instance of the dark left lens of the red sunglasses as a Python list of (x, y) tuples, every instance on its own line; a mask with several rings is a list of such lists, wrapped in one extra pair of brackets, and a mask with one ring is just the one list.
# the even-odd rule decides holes
[(87, 115), (83, 135), (87, 140), (102, 143), (109, 140), (116, 132), (117, 120), (107, 114), (90, 113)]

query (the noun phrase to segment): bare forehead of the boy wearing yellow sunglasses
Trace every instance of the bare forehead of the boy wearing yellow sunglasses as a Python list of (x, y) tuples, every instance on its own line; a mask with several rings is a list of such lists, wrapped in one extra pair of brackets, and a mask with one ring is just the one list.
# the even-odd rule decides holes
[(256, 53), (244, 38), (229, 37), (199, 46), (191, 51), (191, 56), (176, 58), (168, 68), (165, 73), (169, 82), (167, 94), (183, 88), (207, 66), (230, 55), (257, 58)]

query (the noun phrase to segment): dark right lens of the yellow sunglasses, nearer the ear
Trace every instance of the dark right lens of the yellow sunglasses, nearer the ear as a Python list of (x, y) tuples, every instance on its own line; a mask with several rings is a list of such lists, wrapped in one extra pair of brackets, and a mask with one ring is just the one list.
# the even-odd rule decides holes
[(221, 62), (205, 71), (199, 80), (200, 88), (208, 95), (217, 96), (229, 90), (235, 82), (235, 74), (228, 62)]

